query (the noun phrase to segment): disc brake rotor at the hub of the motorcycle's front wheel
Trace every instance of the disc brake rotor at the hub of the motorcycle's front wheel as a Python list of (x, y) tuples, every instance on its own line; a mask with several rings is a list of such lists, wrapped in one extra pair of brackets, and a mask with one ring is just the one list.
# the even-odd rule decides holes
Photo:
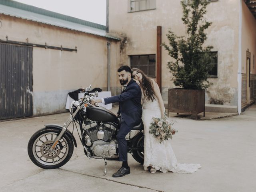
[(53, 144), (52, 140), (48, 140), (42, 144), (40, 151), (44, 158), (54, 159), (58, 157), (58, 155), (60, 154), (61, 148), (58, 148), (59, 147), (58, 145), (57, 145), (58, 147), (55, 146), (53, 150), (49, 151), (52, 144)]

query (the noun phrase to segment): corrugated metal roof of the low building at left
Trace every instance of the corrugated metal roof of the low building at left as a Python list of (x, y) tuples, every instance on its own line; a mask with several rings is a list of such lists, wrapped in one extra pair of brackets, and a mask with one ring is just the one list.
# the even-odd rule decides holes
[(108, 35), (104, 25), (65, 16), (14, 1), (0, 0), (0, 14), (120, 40), (119, 38)]

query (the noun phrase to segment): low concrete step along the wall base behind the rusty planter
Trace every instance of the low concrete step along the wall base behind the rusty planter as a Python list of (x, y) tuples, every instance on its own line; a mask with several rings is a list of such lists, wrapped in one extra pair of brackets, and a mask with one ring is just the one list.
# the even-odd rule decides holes
[[(164, 101), (164, 107), (168, 108), (168, 102)], [(205, 104), (206, 112), (216, 112), (216, 113), (236, 113), (237, 106), (231, 105), (214, 105), (214, 104)]]

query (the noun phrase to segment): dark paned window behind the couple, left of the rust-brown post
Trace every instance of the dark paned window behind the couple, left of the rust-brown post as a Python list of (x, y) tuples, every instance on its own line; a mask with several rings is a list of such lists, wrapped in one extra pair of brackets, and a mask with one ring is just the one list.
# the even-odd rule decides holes
[(156, 55), (131, 55), (131, 68), (142, 70), (149, 77), (156, 77)]

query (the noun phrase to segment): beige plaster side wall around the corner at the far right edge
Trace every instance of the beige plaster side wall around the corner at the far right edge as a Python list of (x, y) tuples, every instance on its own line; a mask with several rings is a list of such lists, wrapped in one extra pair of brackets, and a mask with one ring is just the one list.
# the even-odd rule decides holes
[(242, 73), (246, 73), (246, 51), (251, 53), (250, 74), (256, 74), (256, 19), (242, 1)]

